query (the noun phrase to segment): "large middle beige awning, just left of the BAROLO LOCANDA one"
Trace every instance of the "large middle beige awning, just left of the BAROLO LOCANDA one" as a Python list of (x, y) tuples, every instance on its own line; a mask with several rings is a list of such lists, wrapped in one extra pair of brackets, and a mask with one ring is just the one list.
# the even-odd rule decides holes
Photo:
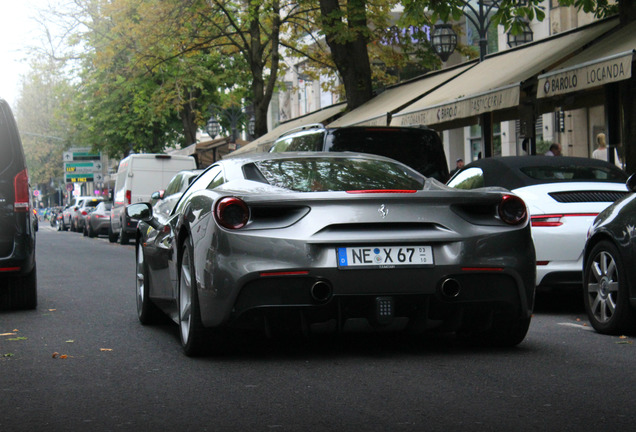
[(396, 113), (392, 126), (436, 125), (516, 108), (521, 86), (618, 24), (609, 19), (487, 56), (438, 90)]

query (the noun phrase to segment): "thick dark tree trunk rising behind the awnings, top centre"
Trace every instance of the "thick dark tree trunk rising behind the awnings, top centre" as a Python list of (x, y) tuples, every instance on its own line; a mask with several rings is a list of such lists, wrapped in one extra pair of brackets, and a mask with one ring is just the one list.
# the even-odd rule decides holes
[[(366, 0), (347, 2), (347, 36), (339, 32), (345, 26), (338, 0), (320, 0), (320, 11), (327, 45), (331, 49), (336, 68), (344, 84), (347, 108), (352, 110), (373, 97), (371, 65), (367, 51), (365, 13)], [(340, 39), (340, 40), (339, 40)], [(341, 41), (341, 40), (345, 41)]]

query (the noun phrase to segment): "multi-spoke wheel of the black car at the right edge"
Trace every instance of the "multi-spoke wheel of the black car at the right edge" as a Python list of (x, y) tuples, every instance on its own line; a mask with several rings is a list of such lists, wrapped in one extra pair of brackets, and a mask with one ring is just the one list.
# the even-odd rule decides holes
[(583, 276), (583, 302), (592, 327), (603, 334), (634, 331), (627, 275), (618, 248), (601, 241), (589, 255)]

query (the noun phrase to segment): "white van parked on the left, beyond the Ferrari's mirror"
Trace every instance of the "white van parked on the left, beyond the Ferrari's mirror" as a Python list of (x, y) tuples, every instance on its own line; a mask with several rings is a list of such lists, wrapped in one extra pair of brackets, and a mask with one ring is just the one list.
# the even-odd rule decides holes
[(176, 173), (195, 168), (196, 161), (191, 156), (133, 154), (122, 159), (115, 179), (108, 240), (114, 243), (119, 238), (121, 244), (127, 244), (137, 221), (126, 217), (126, 206), (149, 202), (150, 195), (165, 189)]

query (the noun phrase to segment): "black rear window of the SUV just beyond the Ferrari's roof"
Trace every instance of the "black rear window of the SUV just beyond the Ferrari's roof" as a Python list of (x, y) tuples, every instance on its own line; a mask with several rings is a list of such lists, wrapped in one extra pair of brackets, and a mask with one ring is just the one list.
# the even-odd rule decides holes
[(333, 131), (330, 151), (386, 156), (427, 177), (448, 180), (446, 156), (436, 132), (428, 129), (342, 128)]

